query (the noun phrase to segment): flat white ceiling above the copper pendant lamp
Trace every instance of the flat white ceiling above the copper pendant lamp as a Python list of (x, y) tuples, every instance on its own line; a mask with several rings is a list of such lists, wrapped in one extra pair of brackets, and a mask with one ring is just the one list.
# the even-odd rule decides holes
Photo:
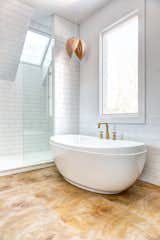
[(21, 0), (35, 8), (35, 16), (57, 14), (80, 23), (109, 0)]

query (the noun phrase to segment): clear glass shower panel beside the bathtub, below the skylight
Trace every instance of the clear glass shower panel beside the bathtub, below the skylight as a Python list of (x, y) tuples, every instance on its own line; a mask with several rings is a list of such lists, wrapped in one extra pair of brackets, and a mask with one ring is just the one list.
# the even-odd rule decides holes
[[(41, 34), (39, 33), (42, 38)], [(38, 36), (37, 36), (38, 37)], [(47, 39), (45, 39), (47, 40)], [(48, 43), (47, 43), (48, 42)], [(28, 42), (25, 48), (32, 49)], [(48, 37), (43, 56), (38, 64), (21, 62), (23, 66), (23, 164), (32, 165), (52, 161), (49, 138), (53, 133), (52, 50), (54, 41)], [(28, 52), (30, 54), (30, 52)], [(40, 53), (41, 55), (41, 53)], [(33, 54), (34, 58), (34, 54)], [(32, 62), (34, 61), (31, 59)], [(37, 58), (37, 54), (36, 54)], [(23, 52), (22, 52), (23, 59)]]

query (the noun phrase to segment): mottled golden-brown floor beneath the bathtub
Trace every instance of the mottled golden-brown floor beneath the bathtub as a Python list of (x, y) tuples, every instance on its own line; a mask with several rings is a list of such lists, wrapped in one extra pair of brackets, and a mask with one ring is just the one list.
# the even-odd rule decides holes
[(137, 181), (100, 195), (55, 166), (1, 177), (0, 240), (160, 240), (160, 187)]

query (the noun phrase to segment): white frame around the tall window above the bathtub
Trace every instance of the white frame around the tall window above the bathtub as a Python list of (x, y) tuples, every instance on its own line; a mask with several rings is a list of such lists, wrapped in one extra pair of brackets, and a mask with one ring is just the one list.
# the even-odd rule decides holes
[[(138, 113), (114, 113), (103, 112), (103, 35), (121, 23), (138, 16)], [(103, 120), (110, 123), (145, 123), (145, 13), (138, 10), (133, 11), (118, 21), (110, 24), (100, 32), (99, 38), (99, 113)]]

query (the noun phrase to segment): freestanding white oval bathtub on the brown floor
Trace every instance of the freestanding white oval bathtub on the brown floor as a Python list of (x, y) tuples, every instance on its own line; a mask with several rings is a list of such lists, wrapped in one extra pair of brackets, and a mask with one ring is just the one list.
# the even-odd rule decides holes
[(82, 135), (53, 136), (50, 144), (55, 164), (68, 182), (103, 194), (130, 187), (143, 170), (147, 152), (143, 143)]

